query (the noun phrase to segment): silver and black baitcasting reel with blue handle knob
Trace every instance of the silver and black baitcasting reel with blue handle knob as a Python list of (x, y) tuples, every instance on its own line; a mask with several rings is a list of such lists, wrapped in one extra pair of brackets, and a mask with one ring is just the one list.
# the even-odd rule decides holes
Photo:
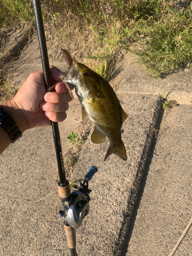
[(97, 172), (96, 166), (91, 166), (89, 172), (84, 176), (83, 183), (80, 187), (74, 186), (75, 191), (71, 194), (69, 200), (62, 200), (64, 211), (60, 210), (59, 215), (64, 219), (67, 224), (73, 228), (79, 228), (82, 224), (83, 218), (89, 214), (90, 205), (89, 193), (92, 191), (88, 188), (89, 181)]

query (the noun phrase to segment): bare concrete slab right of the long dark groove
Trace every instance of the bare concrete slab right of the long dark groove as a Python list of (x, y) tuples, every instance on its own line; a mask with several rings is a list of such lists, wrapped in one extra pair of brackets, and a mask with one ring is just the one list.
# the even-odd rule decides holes
[[(192, 105), (165, 111), (121, 255), (169, 255), (192, 218)], [(191, 227), (174, 255), (191, 256)]]

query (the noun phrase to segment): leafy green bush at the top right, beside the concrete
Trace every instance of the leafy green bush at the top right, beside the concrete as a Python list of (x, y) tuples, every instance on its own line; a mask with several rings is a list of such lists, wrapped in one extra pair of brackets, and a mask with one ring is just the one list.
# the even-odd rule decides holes
[[(140, 19), (134, 25), (134, 37), (142, 45), (134, 52), (141, 57), (146, 69), (155, 76), (186, 67), (191, 62), (192, 16), (188, 8), (177, 13), (169, 6), (158, 18)], [(141, 34), (143, 35), (140, 38)]]

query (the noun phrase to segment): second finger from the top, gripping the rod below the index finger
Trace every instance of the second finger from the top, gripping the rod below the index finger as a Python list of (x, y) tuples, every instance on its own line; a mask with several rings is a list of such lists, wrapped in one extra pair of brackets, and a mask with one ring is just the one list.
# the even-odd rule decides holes
[(44, 100), (49, 103), (66, 103), (72, 100), (69, 93), (48, 92), (44, 95)]

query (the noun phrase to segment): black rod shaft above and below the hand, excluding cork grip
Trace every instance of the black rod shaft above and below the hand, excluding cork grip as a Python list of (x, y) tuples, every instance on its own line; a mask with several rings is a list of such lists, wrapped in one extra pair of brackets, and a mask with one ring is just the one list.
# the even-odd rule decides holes
[[(42, 69), (44, 71), (44, 78), (46, 82), (46, 87), (48, 89), (49, 87), (52, 86), (52, 82), (51, 82), (51, 73), (49, 68), (49, 58), (47, 53), (44, 24), (42, 22), (42, 13), (41, 13), (39, 0), (33, 0), (33, 8), (34, 8), (35, 22), (36, 22), (37, 34), (38, 34), (38, 40), (39, 40)], [(57, 122), (52, 122), (52, 130), (53, 130), (53, 137), (54, 137), (54, 143), (55, 143), (55, 151), (56, 151), (60, 185), (64, 186), (67, 183), (67, 179), (65, 174), (65, 167), (63, 165), (60, 135), (59, 135), (59, 128), (58, 128)]]

